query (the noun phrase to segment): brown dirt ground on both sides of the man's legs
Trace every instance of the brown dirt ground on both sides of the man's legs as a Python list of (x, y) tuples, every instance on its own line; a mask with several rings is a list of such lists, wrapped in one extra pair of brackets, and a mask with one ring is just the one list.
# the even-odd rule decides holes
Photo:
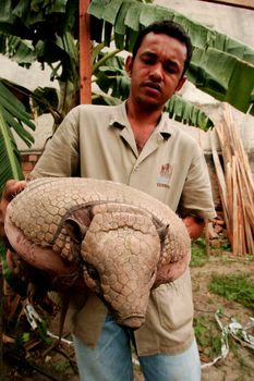
[[(254, 256), (233, 257), (230, 253), (211, 254), (202, 266), (191, 268), (193, 280), (193, 297), (195, 319), (204, 319), (205, 328), (210, 335), (210, 343), (214, 339), (219, 341), (220, 329), (216, 329), (215, 312), (222, 309), (227, 323), (228, 318), (235, 318), (242, 324), (246, 323), (254, 311), (244, 308), (242, 305), (229, 302), (226, 298), (211, 294), (208, 285), (213, 274), (253, 274), (254, 281)], [(58, 318), (55, 319), (52, 329), (56, 330)], [(211, 330), (213, 327), (213, 330)], [(57, 331), (55, 332), (57, 333)], [(252, 332), (253, 334), (253, 332)], [(214, 335), (214, 337), (213, 337)], [(210, 344), (213, 345), (213, 344)], [(209, 354), (209, 344), (198, 346), (203, 364), (209, 362), (213, 358)], [(4, 344), (4, 353), (8, 353), (9, 345)], [(75, 366), (74, 352), (72, 346), (61, 344), (60, 349), (50, 351), (47, 355), (44, 351), (47, 345), (37, 343), (34, 348), (26, 352), (23, 358), (20, 354), (12, 356), (4, 355), (4, 370), (1, 371), (1, 381), (78, 381)], [(28, 367), (33, 364), (33, 367)], [(44, 374), (45, 372), (45, 374)], [(135, 366), (135, 381), (143, 381), (144, 378)], [(229, 340), (229, 354), (226, 359), (214, 366), (203, 369), (202, 381), (251, 381), (254, 380), (254, 351), (240, 345), (235, 340)], [(98, 380), (100, 381), (100, 380)], [(102, 380), (101, 380), (102, 381)], [(120, 380), (124, 381), (124, 380)], [(159, 381), (159, 380), (155, 380)], [(180, 380), (181, 381), (181, 380)]]

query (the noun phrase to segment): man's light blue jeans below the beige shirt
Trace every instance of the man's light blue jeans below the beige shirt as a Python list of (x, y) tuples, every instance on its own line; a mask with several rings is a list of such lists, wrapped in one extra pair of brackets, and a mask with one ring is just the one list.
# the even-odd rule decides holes
[[(133, 381), (129, 329), (107, 316), (95, 348), (73, 337), (81, 381)], [(201, 364), (196, 342), (179, 355), (141, 356), (146, 381), (199, 381)]]

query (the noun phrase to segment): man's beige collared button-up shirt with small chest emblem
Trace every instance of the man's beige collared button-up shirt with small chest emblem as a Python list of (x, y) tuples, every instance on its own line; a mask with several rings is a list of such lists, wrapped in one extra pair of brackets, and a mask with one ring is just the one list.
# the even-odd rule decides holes
[[(196, 142), (162, 114), (138, 155), (125, 102), (74, 108), (32, 174), (111, 180), (148, 193), (182, 217), (216, 216), (206, 162)], [(95, 345), (106, 307), (93, 294), (85, 304), (81, 295), (74, 295), (73, 306), (73, 332)], [(145, 324), (135, 331), (138, 354), (184, 351), (193, 341), (192, 320), (188, 269), (173, 283), (152, 291)]]

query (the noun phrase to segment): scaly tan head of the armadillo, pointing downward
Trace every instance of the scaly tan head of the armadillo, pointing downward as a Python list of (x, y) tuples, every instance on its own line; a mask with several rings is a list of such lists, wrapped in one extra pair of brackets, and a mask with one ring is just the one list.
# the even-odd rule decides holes
[[(101, 206), (93, 211), (81, 244), (85, 283), (112, 309), (119, 324), (136, 329), (144, 322), (156, 279), (159, 234), (145, 213)], [(76, 228), (82, 232), (83, 226)]]

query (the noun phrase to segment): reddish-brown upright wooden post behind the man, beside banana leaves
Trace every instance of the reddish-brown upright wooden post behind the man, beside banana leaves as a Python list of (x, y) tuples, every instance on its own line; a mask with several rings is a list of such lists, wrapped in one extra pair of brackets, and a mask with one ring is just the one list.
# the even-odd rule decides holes
[(80, 0), (80, 103), (92, 102), (92, 46), (89, 32), (89, 0)]

